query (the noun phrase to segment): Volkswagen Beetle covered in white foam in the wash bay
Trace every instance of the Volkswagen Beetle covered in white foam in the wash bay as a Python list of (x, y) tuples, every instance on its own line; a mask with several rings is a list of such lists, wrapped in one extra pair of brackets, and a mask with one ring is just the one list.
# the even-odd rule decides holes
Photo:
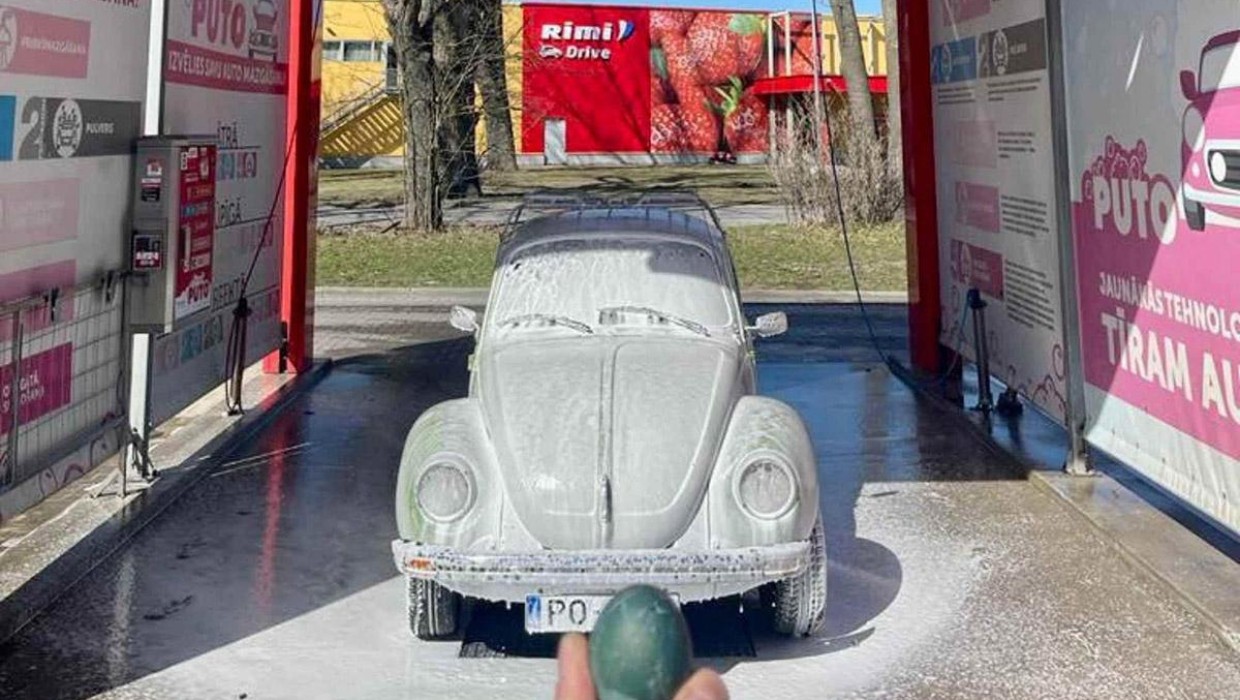
[(477, 341), (469, 396), (418, 419), (397, 483), (419, 638), (453, 634), (463, 597), (523, 605), (532, 633), (589, 631), (635, 582), (682, 603), (761, 587), (777, 631), (821, 628), (813, 450), (755, 395), (753, 341), (787, 321), (748, 325), (713, 213), (668, 207), (515, 225), (485, 320), (453, 310)]

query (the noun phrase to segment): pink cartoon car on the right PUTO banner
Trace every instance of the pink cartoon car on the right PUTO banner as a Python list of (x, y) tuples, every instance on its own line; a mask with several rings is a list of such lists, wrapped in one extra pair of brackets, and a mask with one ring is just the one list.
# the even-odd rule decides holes
[(1198, 72), (1179, 74), (1188, 99), (1182, 146), (1184, 219), (1205, 229), (1207, 209), (1240, 218), (1240, 30), (1220, 33), (1202, 50)]

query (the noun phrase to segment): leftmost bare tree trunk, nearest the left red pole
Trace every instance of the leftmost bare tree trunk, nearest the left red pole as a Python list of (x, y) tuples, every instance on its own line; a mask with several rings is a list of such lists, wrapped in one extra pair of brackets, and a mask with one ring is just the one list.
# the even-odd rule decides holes
[(403, 223), (419, 230), (438, 230), (444, 224), (434, 57), (436, 4), (436, 0), (383, 0), (401, 67), (405, 121)]

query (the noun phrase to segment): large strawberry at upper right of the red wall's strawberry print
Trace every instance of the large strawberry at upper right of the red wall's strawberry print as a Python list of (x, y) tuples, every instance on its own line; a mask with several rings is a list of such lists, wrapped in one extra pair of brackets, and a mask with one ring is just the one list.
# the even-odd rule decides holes
[(765, 24), (758, 15), (701, 12), (687, 38), (702, 82), (723, 84), (733, 76), (749, 77), (758, 68)]

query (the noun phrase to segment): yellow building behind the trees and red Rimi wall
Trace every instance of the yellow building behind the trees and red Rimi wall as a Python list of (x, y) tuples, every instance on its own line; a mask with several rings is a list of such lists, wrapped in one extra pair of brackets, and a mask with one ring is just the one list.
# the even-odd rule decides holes
[[(652, 0), (657, 4), (657, 0)], [(565, 2), (564, 5), (572, 5)], [(503, 7), (508, 45), (508, 90), (513, 136), (522, 140), (523, 11)], [(806, 21), (806, 20), (802, 20)], [(867, 69), (887, 74), (885, 36), (880, 17), (859, 17)], [(835, 21), (822, 20), (823, 71), (839, 73)], [(322, 131), (320, 155), (327, 167), (397, 166), (404, 149), (404, 121), (397, 95), (396, 59), (379, 0), (325, 0), (322, 46)], [(885, 98), (882, 100), (885, 104)], [(479, 149), (485, 129), (479, 129)]]

